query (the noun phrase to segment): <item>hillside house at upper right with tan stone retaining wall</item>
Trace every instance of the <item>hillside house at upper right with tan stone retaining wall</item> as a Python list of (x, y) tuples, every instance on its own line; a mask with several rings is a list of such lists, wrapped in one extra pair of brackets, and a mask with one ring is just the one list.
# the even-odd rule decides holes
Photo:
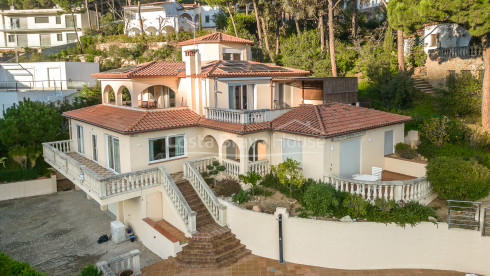
[(471, 73), (483, 78), (484, 63), (481, 42), (455, 23), (426, 24), (418, 38), (405, 40), (407, 53), (413, 45), (422, 44), (428, 54), (426, 79), (433, 86), (443, 84), (448, 76)]

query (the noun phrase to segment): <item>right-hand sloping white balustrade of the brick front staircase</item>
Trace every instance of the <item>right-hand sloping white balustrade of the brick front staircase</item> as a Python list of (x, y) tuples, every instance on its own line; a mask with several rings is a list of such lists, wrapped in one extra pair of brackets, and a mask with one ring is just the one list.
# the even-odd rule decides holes
[(184, 162), (184, 178), (189, 180), (202, 202), (221, 226), (226, 226), (226, 206), (221, 204), (191, 162)]

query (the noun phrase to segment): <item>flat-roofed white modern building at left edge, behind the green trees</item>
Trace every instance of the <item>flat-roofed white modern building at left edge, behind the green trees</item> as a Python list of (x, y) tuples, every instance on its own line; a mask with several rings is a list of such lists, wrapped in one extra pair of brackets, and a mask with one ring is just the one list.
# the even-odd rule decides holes
[(95, 80), (90, 76), (98, 72), (96, 62), (0, 63), (0, 117), (24, 98), (58, 101), (84, 85), (93, 86)]

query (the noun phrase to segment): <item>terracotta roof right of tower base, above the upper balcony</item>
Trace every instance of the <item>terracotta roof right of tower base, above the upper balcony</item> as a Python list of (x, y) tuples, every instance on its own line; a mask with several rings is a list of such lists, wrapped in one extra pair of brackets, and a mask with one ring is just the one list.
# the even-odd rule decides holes
[[(275, 64), (244, 60), (216, 60), (201, 67), (198, 77), (274, 77), (274, 76), (305, 76), (310, 71), (282, 67)], [(179, 77), (186, 77), (180, 72)]]

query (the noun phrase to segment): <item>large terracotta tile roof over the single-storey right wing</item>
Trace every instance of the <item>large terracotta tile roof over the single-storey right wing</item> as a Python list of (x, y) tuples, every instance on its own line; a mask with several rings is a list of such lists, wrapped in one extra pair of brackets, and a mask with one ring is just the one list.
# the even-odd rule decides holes
[(411, 121), (403, 116), (341, 103), (301, 105), (272, 121), (275, 131), (333, 137)]

